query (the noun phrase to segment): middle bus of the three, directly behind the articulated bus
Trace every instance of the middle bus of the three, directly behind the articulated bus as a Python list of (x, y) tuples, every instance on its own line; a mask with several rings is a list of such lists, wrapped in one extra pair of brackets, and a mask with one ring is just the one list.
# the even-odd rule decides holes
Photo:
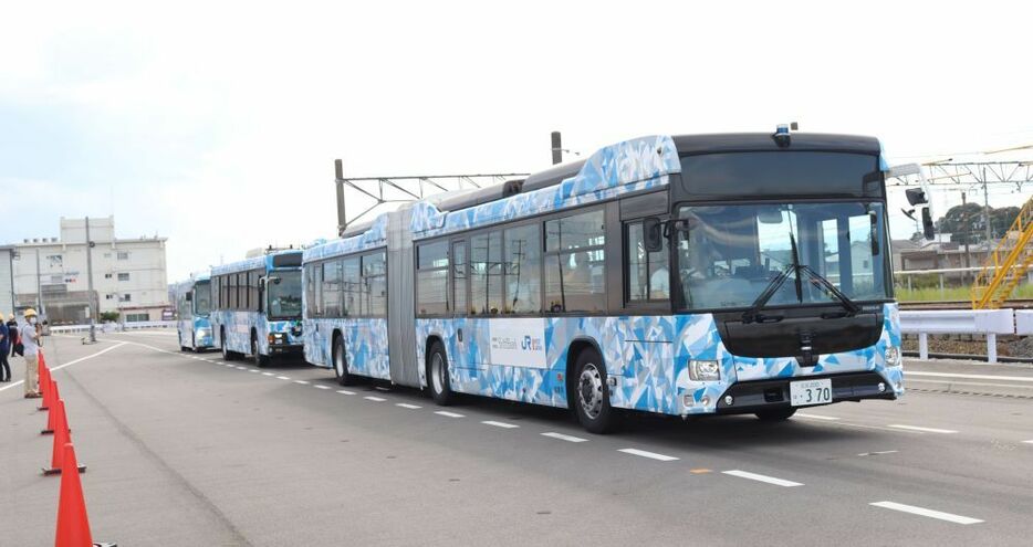
[(264, 367), (302, 353), (301, 251), (278, 251), (211, 270), (211, 327), (222, 358)]

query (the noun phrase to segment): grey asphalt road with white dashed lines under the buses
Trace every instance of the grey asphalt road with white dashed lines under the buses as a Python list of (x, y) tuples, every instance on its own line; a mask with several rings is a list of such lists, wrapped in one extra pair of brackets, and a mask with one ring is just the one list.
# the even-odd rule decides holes
[[(384, 383), (341, 388), (303, 364), (180, 354), (175, 340), (48, 339), (51, 367), (67, 365), (53, 376), (88, 466), (94, 540), (982, 546), (1033, 535), (1027, 368), (908, 364), (925, 383), (895, 402), (781, 424), (635, 415), (596, 436), (555, 409), (440, 408)], [(0, 390), (0, 545), (53, 545), (45, 413), (21, 386)]]

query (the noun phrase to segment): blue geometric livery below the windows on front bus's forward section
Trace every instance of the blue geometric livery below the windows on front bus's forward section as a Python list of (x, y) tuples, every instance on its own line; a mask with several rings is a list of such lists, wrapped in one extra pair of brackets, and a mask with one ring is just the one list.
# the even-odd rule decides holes
[[(545, 319), (546, 368), (489, 365), (490, 322), (508, 319), (417, 319), (417, 339), (438, 336), (449, 360), (453, 390), (486, 397), (566, 408), (566, 362), (571, 340), (592, 340), (602, 349), (616, 408), (664, 414), (712, 413), (718, 398), (734, 382), (770, 378), (875, 371), (897, 396), (904, 395), (899, 366), (887, 367), (887, 347), (900, 348), (896, 304), (884, 304), (881, 336), (875, 345), (823, 355), (814, 367), (801, 367), (793, 357), (752, 358), (732, 355), (710, 314), (674, 316), (553, 317)], [(461, 328), (466, 341), (458, 343)], [(419, 362), (426, 351), (417, 348)], [(718, 360), (720, 381), (691, 381), (689, 359)], [(420, 372), (426, 386), (425, 371)], [(689, 404), (686, 404), (687, 398)]]

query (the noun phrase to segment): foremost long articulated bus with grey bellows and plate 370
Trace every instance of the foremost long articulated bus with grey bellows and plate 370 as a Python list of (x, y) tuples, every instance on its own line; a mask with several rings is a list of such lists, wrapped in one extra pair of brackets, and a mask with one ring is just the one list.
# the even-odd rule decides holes
[(592, 432), (895, 399), (886, 169), (868, 137), (653, 136), (407, 204), (305, 251), (305, 357)]

